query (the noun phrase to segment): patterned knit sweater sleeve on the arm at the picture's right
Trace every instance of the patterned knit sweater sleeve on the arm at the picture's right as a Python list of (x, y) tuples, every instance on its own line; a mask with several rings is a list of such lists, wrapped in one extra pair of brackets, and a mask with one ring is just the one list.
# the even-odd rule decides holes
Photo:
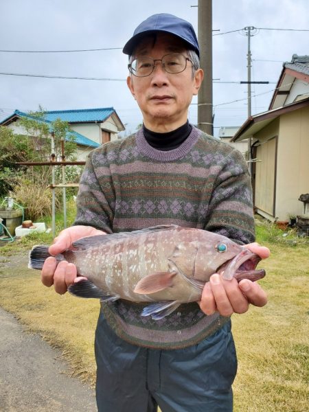
[(255, 240), (251, 179), (238, 150), (231, 151), (216, 177), (205, 229), (238, 244)]

